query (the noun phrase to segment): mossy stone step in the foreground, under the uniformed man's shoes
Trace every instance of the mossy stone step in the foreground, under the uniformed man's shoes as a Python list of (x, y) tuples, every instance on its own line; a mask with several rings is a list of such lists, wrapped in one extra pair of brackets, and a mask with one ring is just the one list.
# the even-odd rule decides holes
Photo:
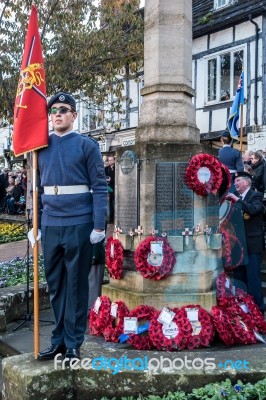
[[(226, 378), (234, 382), (241, 379), (254, 383), (265, 377), (266, 349), (260, 345), (245, 347), (234, 348), (229, 355), (224, 349), (217, 348), (215, 352), (213, 349), (137, 351), (119, 348), (118, 345), (88, 342), (82, 346), (81, 352), (85, 368), (76, 370), (62, 370), (59, 364), (55, 369), (53, 361), (38, 362), (32, 353), (13, 356), (3, 360), (3, 400), (97, 400), (103, 396), (164, 395), (177, 390), (190, 392), (193, 388)], [(93, 368), (92, 360), (95, 358), (101, 365)], [(117, 371), (106, 368), (111, 358), (113, 365), (119, 365)], [(169, 361), (163, 362), (163, 358)], [(246, 359), (252, 368), (225, 370), (219, 367), (228, 358), (233, 361)], [(139, 361), (136, 364), (131, 361), (131, 364), (126, 363), (126, 360), (134, 359)], [(153, 371), (148, 367), (151, 359), (155, 366)], [(215, 363), (213, 369), (206, 368), (206, 359)], [(190, 362), (188, 368), (185, 360)], [(194, 363), (192, 368), (191, 362)], [(167, 370), (169, 363), (176, 368)], [(93, 365), (96, 365), (95, 361)], [(132, 365), (136, 366), (135, 369)]]

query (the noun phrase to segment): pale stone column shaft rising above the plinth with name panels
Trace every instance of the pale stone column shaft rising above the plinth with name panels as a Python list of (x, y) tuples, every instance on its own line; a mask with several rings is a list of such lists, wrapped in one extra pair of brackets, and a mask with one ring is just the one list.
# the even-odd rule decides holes
[(199, 143), (192, 104), (192, 1), (147, 0), (137, 142)]

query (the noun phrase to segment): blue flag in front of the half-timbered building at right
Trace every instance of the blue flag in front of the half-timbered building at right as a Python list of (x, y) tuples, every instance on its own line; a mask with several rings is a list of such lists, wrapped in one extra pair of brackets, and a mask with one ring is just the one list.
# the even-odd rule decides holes
[(227, 126), (232, 139), (238, 139), (238, 121), (240, 105), (244, 104), (244, 71), (241, 72), (236, 95), (232, 107), (230, 108), (230, 114), (227, 122)]

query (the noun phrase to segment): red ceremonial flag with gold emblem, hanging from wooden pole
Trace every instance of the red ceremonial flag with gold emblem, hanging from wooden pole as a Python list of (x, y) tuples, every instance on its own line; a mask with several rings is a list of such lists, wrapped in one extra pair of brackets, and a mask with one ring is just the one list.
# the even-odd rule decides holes
[(32, 6), (14, 106), (13, 149), (18, 156), (46, 146), (46, 82), (37, 9)]

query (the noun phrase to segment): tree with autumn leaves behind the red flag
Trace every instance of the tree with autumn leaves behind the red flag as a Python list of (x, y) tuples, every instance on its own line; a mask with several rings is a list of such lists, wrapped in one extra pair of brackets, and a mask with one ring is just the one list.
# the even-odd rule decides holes
[[(58, 90), (120, 110), (123, 77), (143, 67), (140, 0), (36, 0), (45, 58), (47, 95)], [(13, 119), (32, 1), (0, 5), (0, 118)], [(115, 98), (115, 102), (113, 99)]]

